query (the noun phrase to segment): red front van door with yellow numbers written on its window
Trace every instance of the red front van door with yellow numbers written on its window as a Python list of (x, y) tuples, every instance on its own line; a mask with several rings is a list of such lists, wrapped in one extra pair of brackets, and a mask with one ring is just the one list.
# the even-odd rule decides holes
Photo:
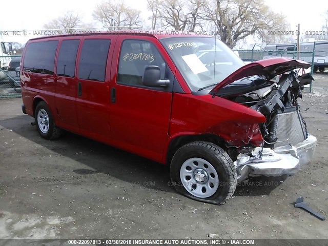
[[(111, 80), (111, 136), (117, 147), (161, 161), (168, 139), (174, 76), (153, 40), (117, 39), (114, 59), (118, 64), (112, 66), (112, 74), (117, 74)], [(145, 68), (150, 65), (160, 68), (161, 79), (170, 79), (169, 87), (142, 84)]]

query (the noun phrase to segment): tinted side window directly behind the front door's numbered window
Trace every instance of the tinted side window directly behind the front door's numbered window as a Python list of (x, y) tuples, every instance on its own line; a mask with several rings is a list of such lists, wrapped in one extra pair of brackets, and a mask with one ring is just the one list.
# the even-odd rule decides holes
[(111, 40), (86, 39), (83, 42), (78, 78), (105, 81), (107, 57)]

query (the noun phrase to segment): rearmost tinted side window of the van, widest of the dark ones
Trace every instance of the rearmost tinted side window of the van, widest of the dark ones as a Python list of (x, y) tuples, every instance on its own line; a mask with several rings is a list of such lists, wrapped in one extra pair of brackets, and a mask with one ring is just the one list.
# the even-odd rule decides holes
[(24, 56), (24, 71), (53, 74), (58, 40), (31, 43)]

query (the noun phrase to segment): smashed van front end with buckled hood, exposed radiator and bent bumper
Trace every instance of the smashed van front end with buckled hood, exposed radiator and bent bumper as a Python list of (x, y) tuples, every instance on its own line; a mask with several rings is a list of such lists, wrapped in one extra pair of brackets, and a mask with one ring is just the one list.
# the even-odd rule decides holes
[[(310, 66), (288, 58), (260, 60), (241, 67), (210, 92), (254, 109), (266, 119), (246, 129), (248, 142), (228, 147), (238, 181), (250, 176), (293, 175), (311, 161), (317, 139), (306, 128), (297, 98), (313, 77), (295, 70)], [(253, 135), (262, 137), (253, 139)]]

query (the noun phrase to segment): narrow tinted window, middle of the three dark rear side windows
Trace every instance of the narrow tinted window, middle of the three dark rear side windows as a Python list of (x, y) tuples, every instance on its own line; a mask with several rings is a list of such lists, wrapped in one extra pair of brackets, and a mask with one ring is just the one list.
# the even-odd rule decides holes
[(73, 78), (75, 76), (76, 54), (80, 40), (63, 40), (57, 58), (58, 76)]

